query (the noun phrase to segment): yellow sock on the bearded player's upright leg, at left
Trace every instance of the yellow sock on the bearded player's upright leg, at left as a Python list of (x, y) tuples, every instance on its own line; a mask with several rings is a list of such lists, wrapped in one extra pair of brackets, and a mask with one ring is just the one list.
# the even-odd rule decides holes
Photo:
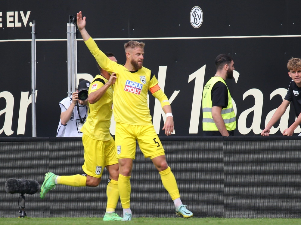
[(122, 208), (130, 208), (131, 183), (130, 178), (119, 173), (118, 190)]

